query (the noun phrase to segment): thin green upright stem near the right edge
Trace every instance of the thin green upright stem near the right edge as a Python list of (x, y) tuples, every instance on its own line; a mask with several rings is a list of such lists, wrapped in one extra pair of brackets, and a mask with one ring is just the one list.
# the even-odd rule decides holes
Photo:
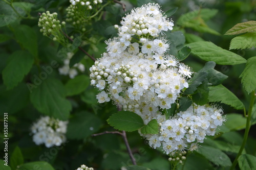
[(255, 90), (253, 90), (251, 92), (250, 106), (249, 106), (248, 114), (246, 115), (246, 129), (245, 129), (245, 133), (244, 133), (244, 140), (243, 140), (243, 143), (241, 145), (241, 148), (238, 152), (236, 159), (234, 159), (233, 164), (230, 167), (230, 170), (232, 170), (232, 169), (234, 169), (234, 167), (236, 167), (236, 165), (238, 163), (238, 158), (240, 157), (240, 155), (242, 154), (242, 151), (244, 150), (244, 147), (245, 147), (245, 144), (246, 144), (246, 141), (248, 138), (249, 130), (251, 127), (250, 120), (251, 120), (251, 112), (252, 112), (252, 108), (254, 105), (254, 100), (255, 100)]

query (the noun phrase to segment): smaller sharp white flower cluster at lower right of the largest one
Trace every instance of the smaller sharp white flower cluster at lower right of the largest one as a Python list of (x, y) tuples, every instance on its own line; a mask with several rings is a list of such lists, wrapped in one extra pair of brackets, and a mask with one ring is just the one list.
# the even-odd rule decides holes
[[(223, 110), (217, 106), (192, 105), (186, 111), (179, 112), (177, 117), (165, 118), (164, 115), (156, 119), (160, 126), (160, 133), (144, 135), (152, 148), (163, 148), (166, 154), (175, 151), (191, 151), (197, 149), (197, 143), (203, 142), (205, 136), (214, 136), (216, 128), (224, 122)], [(143, 135), (143, 134), (142, 134)]]

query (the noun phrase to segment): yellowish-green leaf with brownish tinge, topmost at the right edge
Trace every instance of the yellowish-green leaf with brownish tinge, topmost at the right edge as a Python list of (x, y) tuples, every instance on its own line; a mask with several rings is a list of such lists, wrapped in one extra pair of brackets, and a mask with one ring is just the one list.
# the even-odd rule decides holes
[(238, 23), (231, 29), (229, 29), (224, 35), (237, 35), (242, 33), (255, 33), (256, 21), (251, 20), (247, 22)]

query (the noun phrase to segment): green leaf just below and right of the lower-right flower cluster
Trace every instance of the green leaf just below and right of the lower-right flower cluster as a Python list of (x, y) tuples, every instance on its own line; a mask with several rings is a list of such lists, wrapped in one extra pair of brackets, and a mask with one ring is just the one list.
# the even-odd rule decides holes
[(227, 167), (232, 164), (229, 157), (219, 149), (203, 146), (197, 152), (216, 165)]

